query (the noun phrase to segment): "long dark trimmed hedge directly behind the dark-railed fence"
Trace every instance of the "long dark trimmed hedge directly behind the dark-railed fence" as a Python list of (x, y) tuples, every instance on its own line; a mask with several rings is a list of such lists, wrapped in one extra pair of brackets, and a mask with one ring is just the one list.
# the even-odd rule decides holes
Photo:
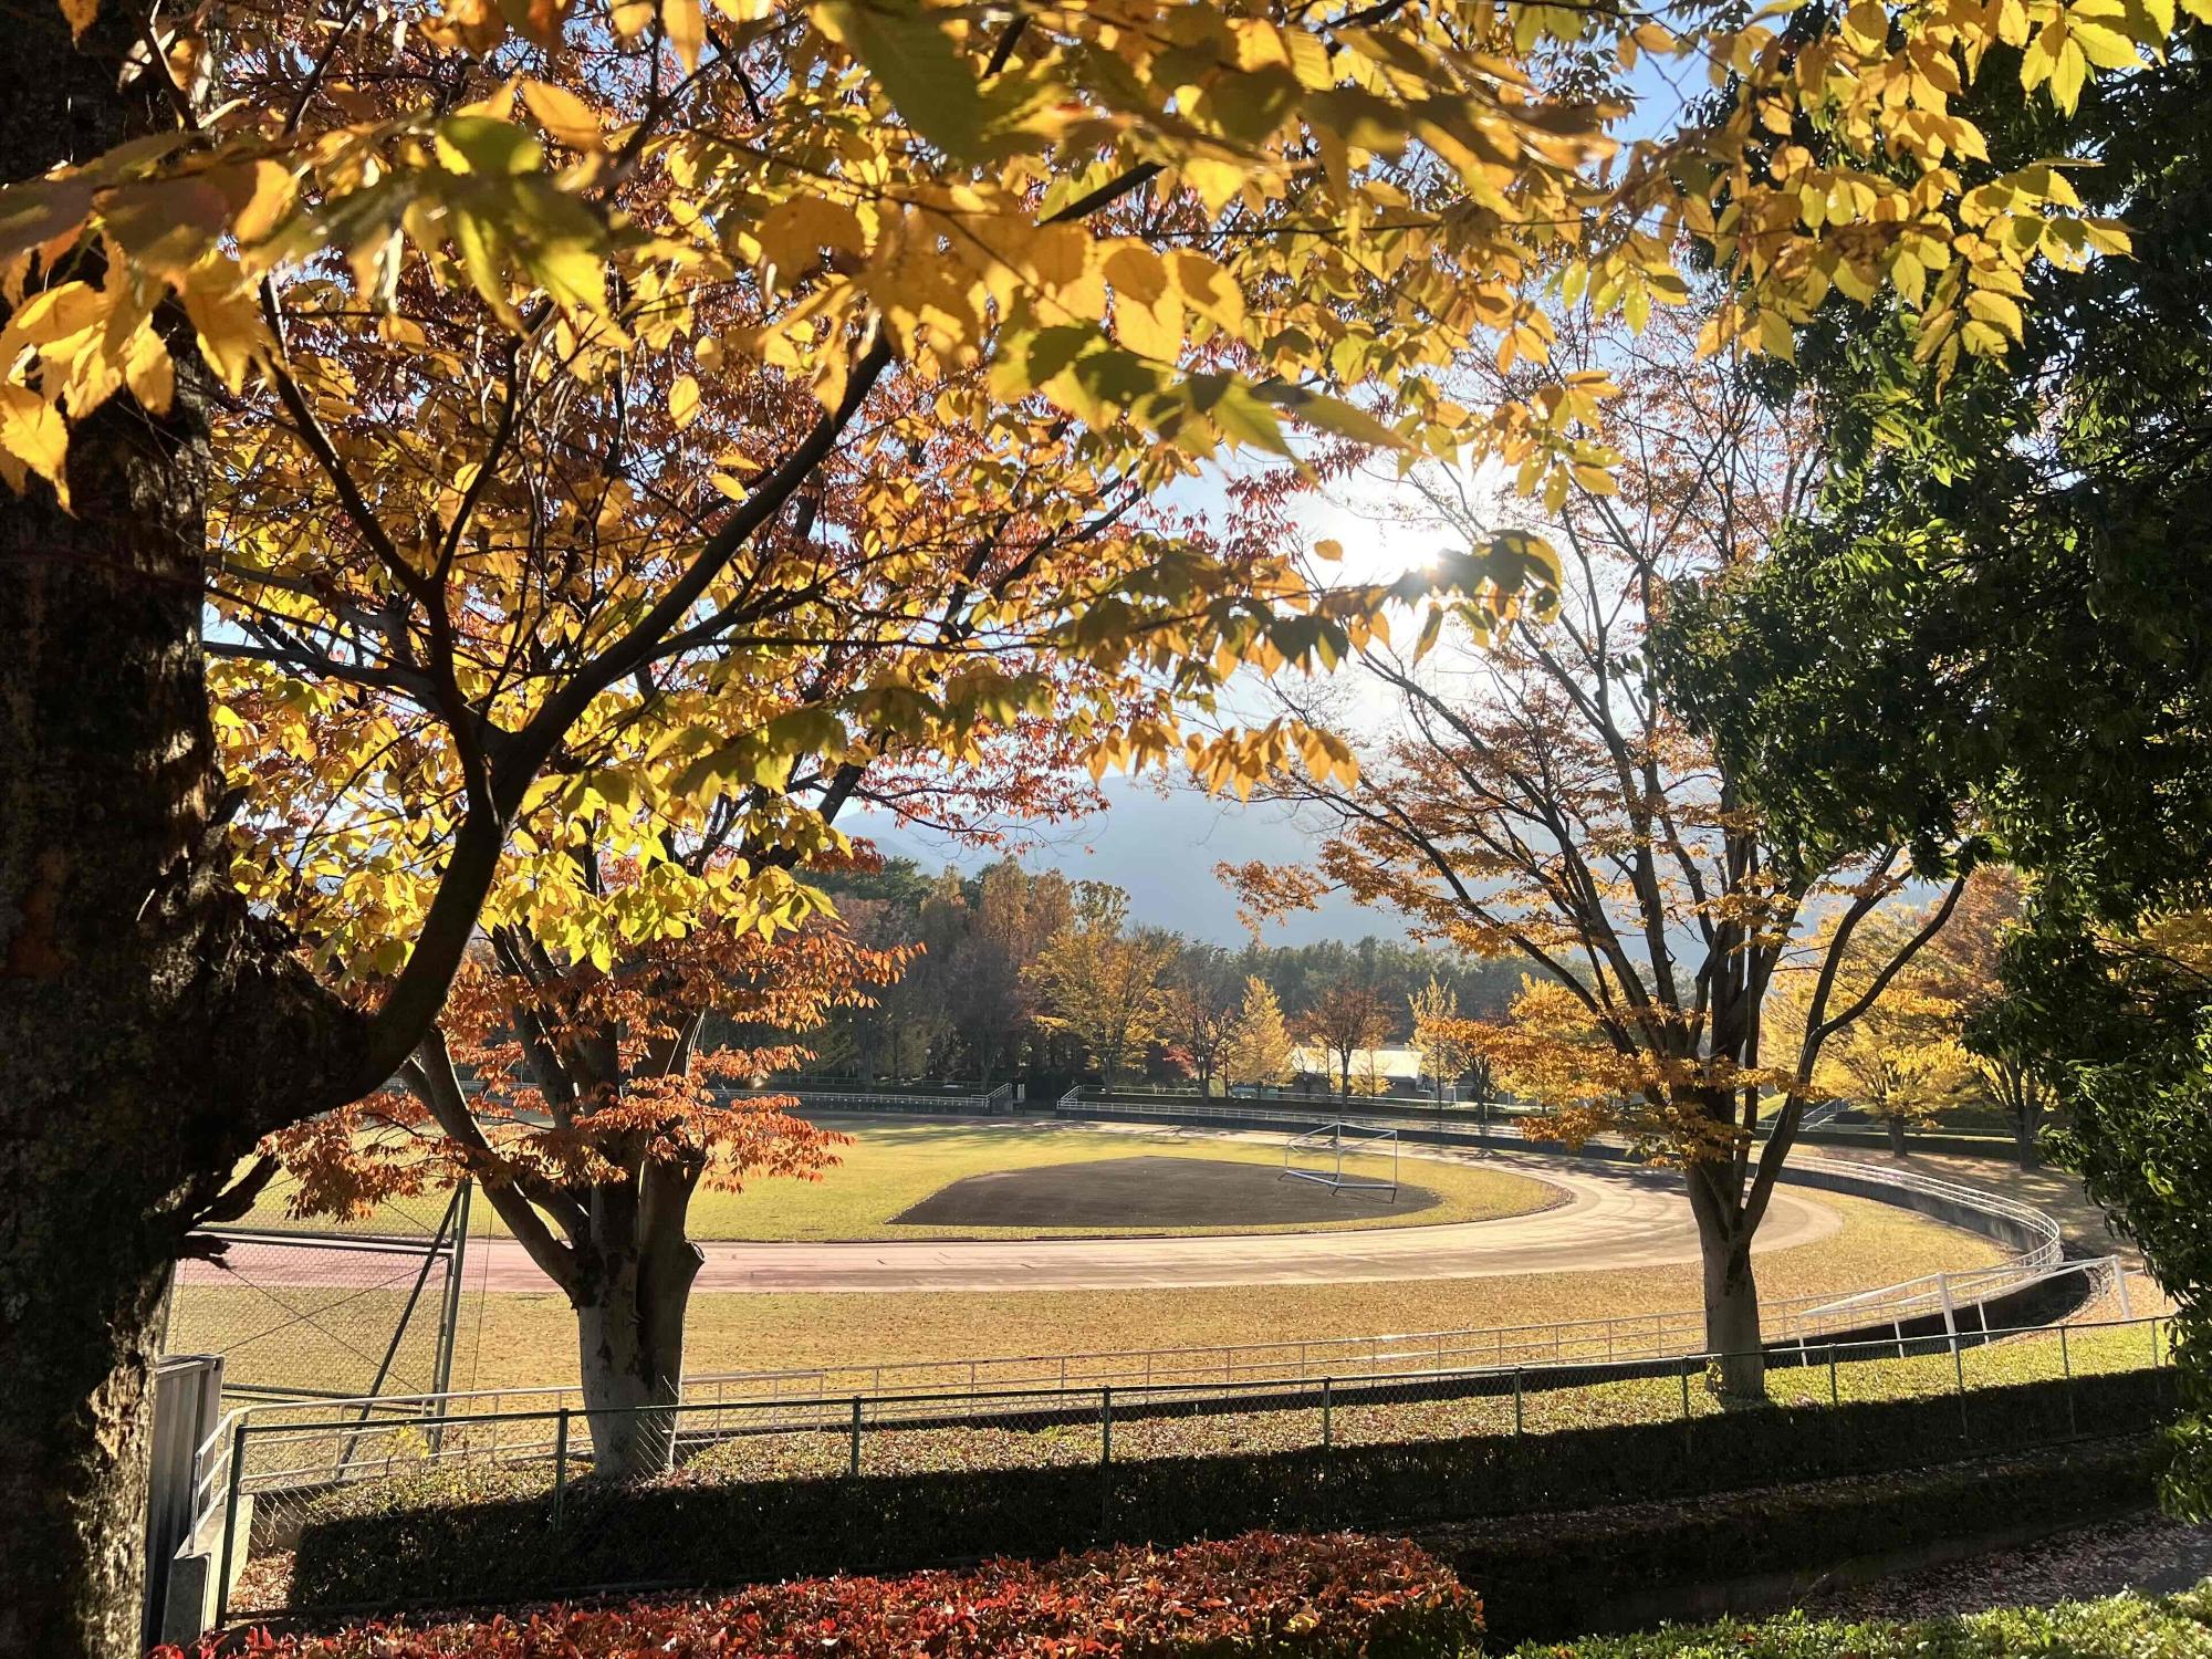
[(940, 1429), (916, 1442), (929, 1447), (931, 1467), (887, 1475), (580, 1480), (557, 1522), (544, 1471), (422, 1473), (314, 1504), (296, 1544), (292, 1606), (905, 1571), (1252, 1528), (1418, 1528), (1958, 1462), (2081, 1429), (2148, 1429), (2170, 1407), (2172, 1371), (2115, 1371), (2070, 1387), (1978, 1389), (1966, 1411), (1958, 1396), (1924, 1396), (1557, 1433), (998, 1469), (962, 1467), (960, 1436)]

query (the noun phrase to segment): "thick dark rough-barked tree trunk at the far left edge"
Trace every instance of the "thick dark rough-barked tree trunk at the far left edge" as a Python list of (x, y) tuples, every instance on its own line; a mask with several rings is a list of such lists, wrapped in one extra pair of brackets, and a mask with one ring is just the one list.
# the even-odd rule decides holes
[[(117, 93), (131, 18), (9, 35), (0, 177), (164, 117)], [(334, 1104), (363, 1024), (226, 872), (201, 679), (206, 372), (117, 396), (75, 513), (0, 491), (0, 1655), (137, 1652), (148, 1383), (177, 1245), (254, 1139)]]

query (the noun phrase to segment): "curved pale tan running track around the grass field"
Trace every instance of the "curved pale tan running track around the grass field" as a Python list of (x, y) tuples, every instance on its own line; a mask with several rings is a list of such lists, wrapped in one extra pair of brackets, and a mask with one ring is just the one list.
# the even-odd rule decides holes
[[(1449, 1152), (1416, 1152), (1407, 1161)], [(1168, 1285), (1343, 1285), (1389, 1279), (1493, 1279), (1697, 1261), (1697, 1225), (1666, 1172), (1493, 1152), (1506, 1168), (1566, 1192), (1535, 1214), (1444, 1225), (1181, 1239), (914, 1239), (869, 1243), (703, 1243), (699, 1290), (1155, 1290)], [(1783, 1188), (1756, 1250), (1836, 1234), (1843, 1219)], [(546, 1279), (513, 1239), (471, 1241), (469, 1283), (544, 1292)], [(312, 1272), (310, 1263), (303, 1263)]]

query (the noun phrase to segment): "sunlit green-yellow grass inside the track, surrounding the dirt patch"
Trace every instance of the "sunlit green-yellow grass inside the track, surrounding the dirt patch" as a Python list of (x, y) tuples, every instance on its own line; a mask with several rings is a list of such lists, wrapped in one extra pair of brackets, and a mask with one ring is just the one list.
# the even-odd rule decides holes
[[(938, 1188), (971, 1175), (1031, 1170), (1048, 1164), (1093, 1164), (1121, 1157), (1201, 1157), (1239, 1164), (1281, 1166), (1279, 1144), (1217, 1137), (1168, 1137), (1152, 1130), (1077, 1128), (1013, 1119), (902, 1121), (883, 1117), (823, 1117), (823, 1128), (852, 1135), (838, 1148), (838, 1164), (821, 1181), (757, 1181), (743, 1192), (699, 1192), (692, 1199), (695, 1239), (832, 1241), (832, 1239), (956, 1239), (978, 1237), (978, 1228), (894, 1225), (891, 1217), (920, 1203)], [(1387, 1159), (1345, 1159), (1345, 1172), (1387, 1175)], [(1383, 1203), (1352, 1203), (1343, 1221), (1281, 1228), (1150, 1228), (1148, 1232), (1325, 1232), (1336, 1228), (1433, 1225), (1444, 1221), (1491, 1221), (1528, 1214), (1557, 1201), (1557, 1188), (1482, 1164), (1405, 1159), (1400, 1177), (1436, 1192), (1442, 1203), (1418, 1212), (1391, 1212)], [(427, 1232), (442, 1210), (438, 1199), (383, 1206), (365, 1221), (316, 1221), (288, 1214), (288, 1190), (272, 1186), (243, 1225), (254, 1228), (347, 1228), (354, 1232)], [(478, 1201), (476, 1232), (504, 1232), (489, 1203)], [(1102, 1228), (1004, 1228), (1002, 1239), (1082, 1239)]]

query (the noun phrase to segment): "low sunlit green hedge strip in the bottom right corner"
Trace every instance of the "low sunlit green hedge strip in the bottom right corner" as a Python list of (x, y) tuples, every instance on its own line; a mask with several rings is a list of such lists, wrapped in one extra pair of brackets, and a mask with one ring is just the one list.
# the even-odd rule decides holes
[(1997, 1608), (1962, 1619), (1843, 1624), (1792, 1615), (1632, 1637), (1582, 1637), (1515, 1650), (1515, 1659), (2208, 1659), (2212, 1586), (2181, 1595), (2115, 1595), (2055, 1608)]

